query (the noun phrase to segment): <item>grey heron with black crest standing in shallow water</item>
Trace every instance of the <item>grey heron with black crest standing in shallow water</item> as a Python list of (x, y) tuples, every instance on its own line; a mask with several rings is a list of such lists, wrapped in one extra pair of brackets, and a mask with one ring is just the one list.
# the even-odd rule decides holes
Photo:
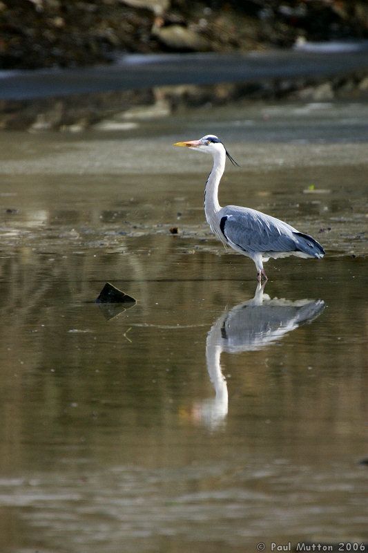
[(269, 258), (277, 259), (290, 255), (302, 258), (320, 259), (325, 250), (309, 234), (299, 232), (288, 223), (250, 207), (226, 205), (220, 207), (218, 187), (224, 174), (226, 157), (233, 165), (238, 163), (231, 157), (224, 144), (215, 135), (207, 134), (200, 140), (175, 142), (182, 146), (210, 153), (213, 167), (204, 190), (204, 213), (211, 231), (226, 246), (250, 257), (257, 268), (257, 279), (267, 281), (263, 263)]

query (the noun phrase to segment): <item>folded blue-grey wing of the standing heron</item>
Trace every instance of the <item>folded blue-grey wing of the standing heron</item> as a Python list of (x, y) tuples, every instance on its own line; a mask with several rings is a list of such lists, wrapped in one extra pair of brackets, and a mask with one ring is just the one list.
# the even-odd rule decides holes
[(220, 228), (226, 241), (244, 252), (293, 252), (297, 250), (287, 223), (254, 209), (228, 206), (222, 210)]

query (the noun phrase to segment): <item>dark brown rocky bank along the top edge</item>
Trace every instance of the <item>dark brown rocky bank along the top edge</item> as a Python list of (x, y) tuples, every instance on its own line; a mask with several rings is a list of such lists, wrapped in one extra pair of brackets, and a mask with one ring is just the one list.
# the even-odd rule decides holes
[(366, 0), (0, 0), (0, 68), (368, 38)]

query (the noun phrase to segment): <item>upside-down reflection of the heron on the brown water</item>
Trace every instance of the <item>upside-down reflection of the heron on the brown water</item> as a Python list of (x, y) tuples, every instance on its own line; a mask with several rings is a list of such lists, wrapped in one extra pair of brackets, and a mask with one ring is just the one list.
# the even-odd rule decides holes
[(206, 339), (206, 364), (215, 388), (215, 397), (197, 406), (206, 426), (215, 429), (226, 418), (228, 391), (222, 374), (222, 352), (255, 351), (280, 340), (301, 324), (310, 323), (325, 308), (321, 299), (271, 299), (258, 283), (252, 299), (239, 303), (230, 311), (224, 310), (215, 321)]

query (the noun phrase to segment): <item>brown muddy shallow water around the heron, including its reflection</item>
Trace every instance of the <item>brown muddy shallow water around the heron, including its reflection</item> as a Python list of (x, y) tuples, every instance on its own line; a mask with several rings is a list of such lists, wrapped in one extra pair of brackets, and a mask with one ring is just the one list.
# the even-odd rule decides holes
[[(367, 539), (366, 115), (1, 135), (1, 552)], [(324, 260), (269, 261), (261, 289), (213, 240), (211, 158), (171, 148), (206, 132), (242, 165), (222, 205), (311, 232)], [(137, 304), (101, 310), (106, 281)]]

